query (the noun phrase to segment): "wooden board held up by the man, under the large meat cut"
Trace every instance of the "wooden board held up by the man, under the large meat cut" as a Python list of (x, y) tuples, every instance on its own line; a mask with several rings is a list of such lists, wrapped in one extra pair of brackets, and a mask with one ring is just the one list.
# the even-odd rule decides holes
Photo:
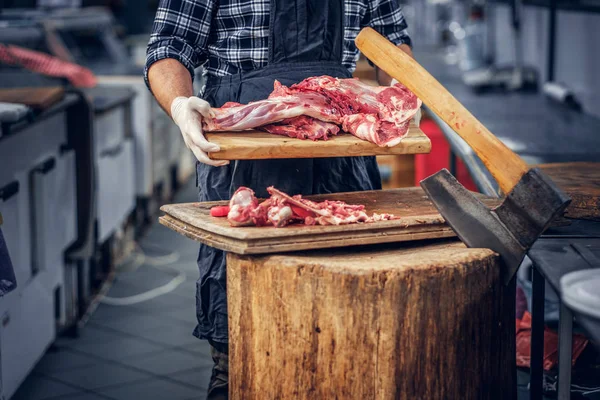
[(375, 156), (431, 151), (431, 141), (414, 124), (410, 125), (407, 136), (394, 147), (379, 147), (347, 133), (319, 141), (258, 131), (207, 133), (206, 138), (221, 147), (221, 151), (210, 153), (214, 160)]

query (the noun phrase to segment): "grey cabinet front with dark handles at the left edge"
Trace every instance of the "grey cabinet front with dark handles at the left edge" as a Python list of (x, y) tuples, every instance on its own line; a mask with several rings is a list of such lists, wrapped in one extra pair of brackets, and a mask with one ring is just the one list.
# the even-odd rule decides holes
[(76, 239), (78, 211), (76, 150), (65, 112), (71, 100), (7, 124), (0, 138), (2, 233), (17, 280), (0, 299), (0, 381), (7, 398), (55, 339), (60, 294), (68, 290), (65, 251)]

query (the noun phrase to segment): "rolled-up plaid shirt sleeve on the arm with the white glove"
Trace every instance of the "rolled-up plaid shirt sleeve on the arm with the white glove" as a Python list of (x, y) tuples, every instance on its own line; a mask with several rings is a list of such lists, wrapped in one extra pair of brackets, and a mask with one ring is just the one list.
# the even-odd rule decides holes
[(207, 59), (213, 9), (213, 0), (160, 0), (146, 51), (148, 88), (148, 69), (165, 58), (179, 61), (194, 78), (194, 70)]

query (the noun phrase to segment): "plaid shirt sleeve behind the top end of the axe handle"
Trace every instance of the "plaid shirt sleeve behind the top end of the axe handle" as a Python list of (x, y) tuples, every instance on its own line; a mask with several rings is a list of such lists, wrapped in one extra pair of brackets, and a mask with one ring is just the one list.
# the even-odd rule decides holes
[(408, 25), (398, 0), (370, 0), (367, 4), (365, 26), (375, 29), (396, 46), (406, 44), (412, 48)]

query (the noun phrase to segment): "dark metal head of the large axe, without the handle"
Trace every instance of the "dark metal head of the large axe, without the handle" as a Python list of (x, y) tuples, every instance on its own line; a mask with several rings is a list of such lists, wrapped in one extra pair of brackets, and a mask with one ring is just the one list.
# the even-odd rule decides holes
[(500, 255), (505, 284), (512, 280), (527, 250), (571, 201), (537, 168), (524, 174), (494, 210), (446, 169), (422, 180), (421, 187), (463, 243)]

